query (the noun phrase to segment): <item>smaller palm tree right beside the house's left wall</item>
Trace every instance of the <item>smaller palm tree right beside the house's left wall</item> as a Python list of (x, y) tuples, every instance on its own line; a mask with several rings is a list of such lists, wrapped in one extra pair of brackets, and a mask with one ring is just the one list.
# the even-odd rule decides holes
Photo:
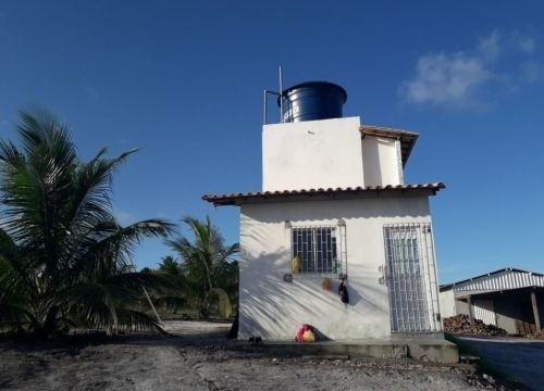
[(180, 237), (166, 243), (183, 261), (182, 268), (187, 281), (200, 287), (200, 311), (207, 316), (212, 300), (219, 300), (223, 316), (232, 311), (227, 291), (237, 291), (238, 243), (224, 244), (224, 238), (209, 217), (201, 222), (186, 216), (182, 219), (189, 228), (193, 240)]

